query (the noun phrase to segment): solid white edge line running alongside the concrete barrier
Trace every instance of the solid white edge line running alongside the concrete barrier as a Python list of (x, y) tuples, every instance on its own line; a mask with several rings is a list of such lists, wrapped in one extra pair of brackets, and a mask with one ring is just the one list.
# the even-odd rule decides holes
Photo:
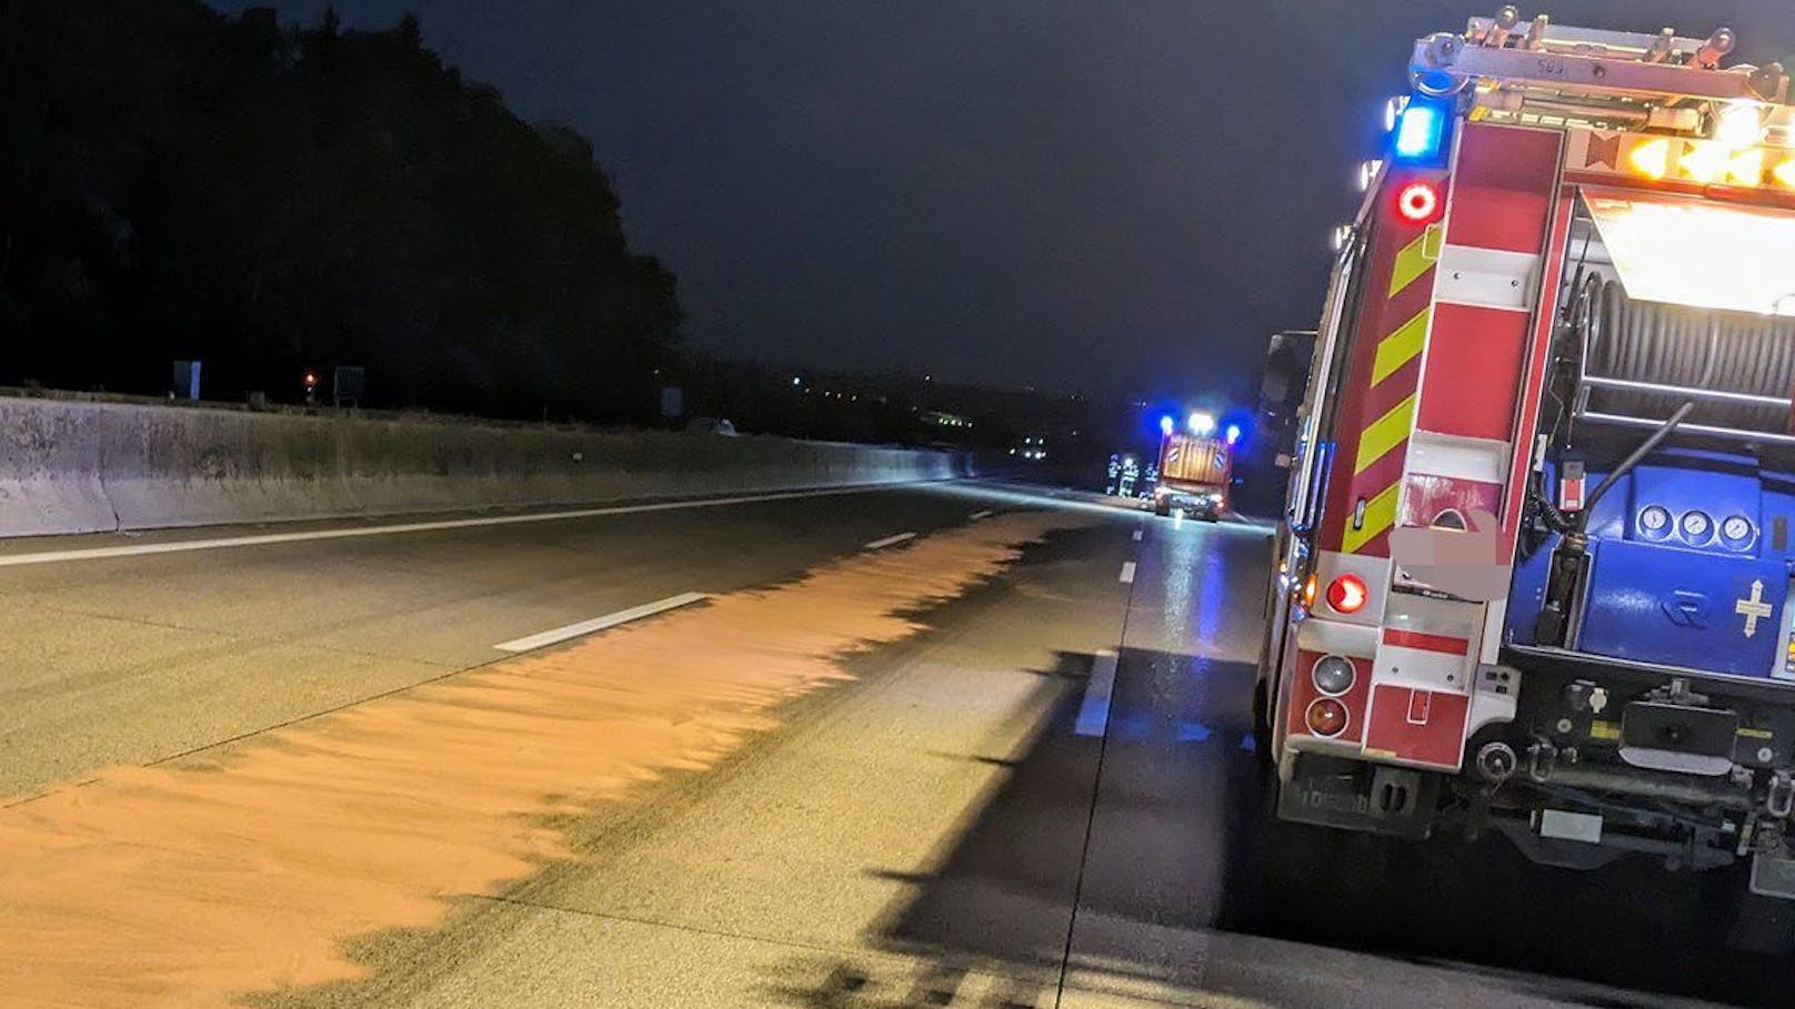
[(757, 501), (792, 501), (797, 497), (831, 497), (836, 494), (867, 494), (896, 490), (917, 483), (872, 483), (862, 487), (831, 487), (820, 490), (781, 490), (774, 494), (740, 494), (732, 497), (700, 497), (696, 501), (657, 501), (653, 504), (612, 504), (605, 508), (578, 508), (573, 512), (530, 512), (524, 515), (486, 515), (481, 519), (440, 519), (431, 522), (402, 522), (393, 526), (361, 526), (337, 530), (309, 530), (303, 533), (262, 533), (253, 537), (224, 537), (176, 542), (142, 542), (133, 546), (95, 546), (86, 549), (50, 549), (41, 553), (14, 553), (0, 557), (0, 567), (27, 564), (59, 564), (65, 560), (104, 560), (108, 557), (142, 557), (149, 553), (187, 553), (190, 549), (228, 549), (237, 546), (269, 546), (280, 542), (336, 540), (354, 537), (384, 537), (395, 533), (433, 533), (442, 530), (472, 530), (479, 526), (517, 526), (524, 522), (556, 522), (564, 519), (596, 519), (601, 515), (641, 515), (646, 512), (679, 512), (684, 508), (722, 508)]

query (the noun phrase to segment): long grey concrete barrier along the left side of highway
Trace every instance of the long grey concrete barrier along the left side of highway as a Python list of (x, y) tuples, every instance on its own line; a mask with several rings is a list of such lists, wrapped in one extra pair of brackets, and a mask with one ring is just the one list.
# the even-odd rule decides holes
[(0, 399), (0, 537), (538, 508), (966, 476), (951, 452)]

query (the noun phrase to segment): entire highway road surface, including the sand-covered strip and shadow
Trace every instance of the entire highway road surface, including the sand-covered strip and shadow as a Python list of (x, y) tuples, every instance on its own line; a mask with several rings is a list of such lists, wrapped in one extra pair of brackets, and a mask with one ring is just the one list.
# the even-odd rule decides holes
[(1795, 1004), (1702, 878), (1269, 826), (1262, 526), (671, 504), (0, 544), (0, 1005)]

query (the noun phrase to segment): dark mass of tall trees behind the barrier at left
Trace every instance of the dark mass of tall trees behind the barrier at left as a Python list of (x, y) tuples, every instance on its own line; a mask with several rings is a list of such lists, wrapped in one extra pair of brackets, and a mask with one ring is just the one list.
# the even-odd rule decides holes
[(0, 0), (0, 382), (632, 420), (680, 321), (592, 147), (418, 23)]

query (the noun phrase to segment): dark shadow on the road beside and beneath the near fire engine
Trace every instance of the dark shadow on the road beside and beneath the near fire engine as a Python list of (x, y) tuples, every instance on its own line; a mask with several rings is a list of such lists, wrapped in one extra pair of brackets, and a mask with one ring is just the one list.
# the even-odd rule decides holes
[[(1061, 654), (1030, 743), (966, 758), (1005, 774), (935, 869), (869, 867), (912, 883), (869, 935), (876, 953), (797, 957), (768, 995), (829, 1009), (1790, 1004), (1788, 964), (1716, 944), (1700, 878), (1628, 860), (1542, 869), (1497, 837), (1273, 824), (1251, 666), (1122, 662), (1161, 668), (1145, 680), (1169, 695), (1118, 697), (1106, 736), (1079, 736), (1091, 657)], [(1186, 688), (1195, 706), (1174, 697)]]

